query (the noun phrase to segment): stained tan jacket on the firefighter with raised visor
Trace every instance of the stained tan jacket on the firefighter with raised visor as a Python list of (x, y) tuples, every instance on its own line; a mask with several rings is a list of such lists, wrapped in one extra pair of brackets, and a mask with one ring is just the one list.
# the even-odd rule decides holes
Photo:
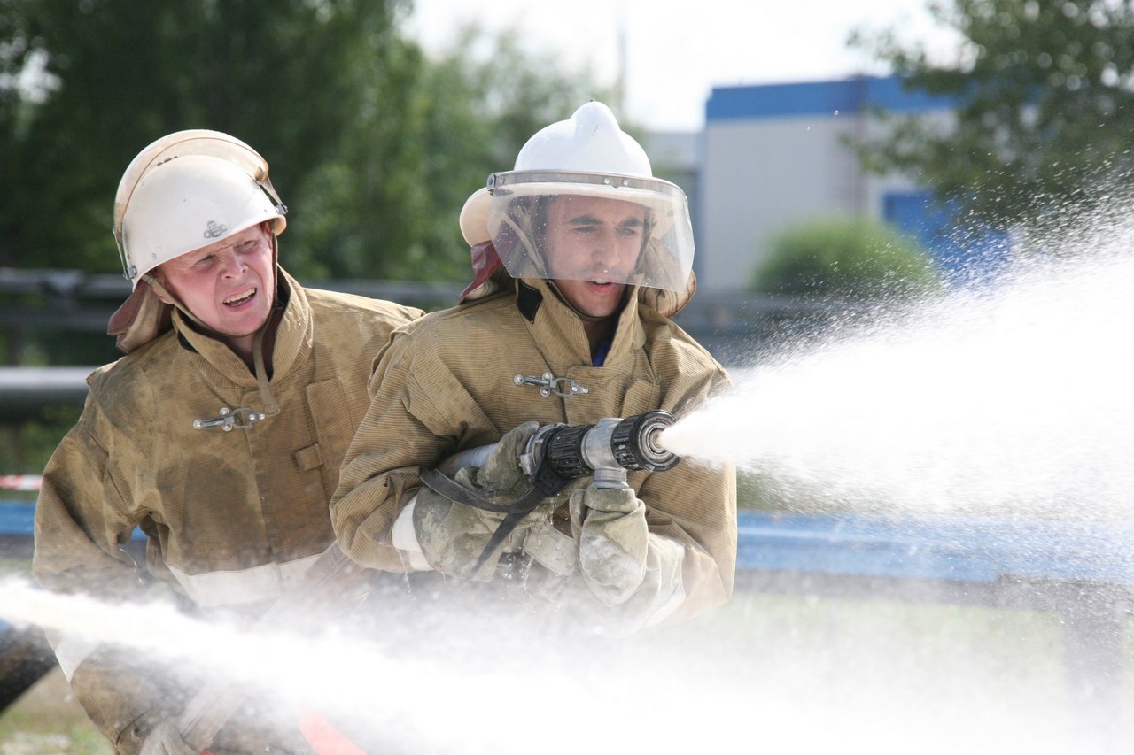
[[(141, 526), (149, 572), (183, 602), (253, 618), (332, 542), (328, 502), (370, 405), (374, 355), (422, 313), (304, 289), (282, 270), (279, 280), (287, 305), (270, 382), (278, 414), (228, 432), (194, 427), (225, 408), (262, 410), (263, 400), (245, 363), (179, 314), (174, 330), (91, 374), (86, 406), (36, 504), (34, 571), (44, 587), (143, 597), (145, 569), (121, 548)], [(56, 650), (120, 752), (135, 752), (156, 720), (185, 705), (167, 688), (168, 670), (130, 653), (66, 637)]]

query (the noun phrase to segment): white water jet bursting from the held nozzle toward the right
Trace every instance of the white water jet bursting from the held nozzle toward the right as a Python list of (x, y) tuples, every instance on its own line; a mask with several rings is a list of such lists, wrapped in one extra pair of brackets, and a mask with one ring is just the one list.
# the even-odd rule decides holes
[(660, 442), (793, 509), (1134, 517), (1131, 241), (785, 350)]

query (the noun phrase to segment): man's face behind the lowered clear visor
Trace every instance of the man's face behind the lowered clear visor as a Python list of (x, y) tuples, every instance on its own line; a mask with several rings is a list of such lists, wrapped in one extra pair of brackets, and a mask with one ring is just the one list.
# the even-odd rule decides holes
[(616, 313), (642, 251), (645, 207), (565, 195), (548, 206), (547, 223), (544, 252), (559, 291), (584, 314)]

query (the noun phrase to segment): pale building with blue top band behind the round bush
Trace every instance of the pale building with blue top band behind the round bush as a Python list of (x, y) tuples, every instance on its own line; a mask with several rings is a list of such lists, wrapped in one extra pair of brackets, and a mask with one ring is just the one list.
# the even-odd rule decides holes
[(951, 99), (907, 91), (897, 76), (712, 90), (705, 128), (694, 137), (693, 190), (678, 180), (691, 197), (702, 290), (748, 287), (776, 235), (816, 218), (889, 222), (921, 240), (947, 270), (1000, 244), (983, 238), (962, 248), (926, 187), (862, 169), (848, 142), (885, 136), (874, 109), (921, 113), (942, 127), (953, 118)]

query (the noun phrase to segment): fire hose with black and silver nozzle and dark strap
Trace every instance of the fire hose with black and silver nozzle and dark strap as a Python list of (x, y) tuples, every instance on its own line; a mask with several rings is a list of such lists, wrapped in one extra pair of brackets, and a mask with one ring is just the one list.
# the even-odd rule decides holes
[[(525, 516), (573, 480), (594, 475), (593, 484), (600, 487), (626, 487), (627, 472), (672, 469), (680, 457), (667, 451), (659, 441), (674, 422), (676, 417), (669, 412), (654, 409), (625, 419), (607, 417), (593, 425), (543, 425), (521, 455), (521, 469), (532, 487), (516, 501), (489, 501), (447, 476), (462, 467), (482, 466), (496, 443), (449, 457), (438, 469), (423, 472), (422, 482), (450, 500), (506, 515), (469, 571), (476, 574)], [(364, 567), (347, 558), (337, 542), (331, 543), (299, 584), (280, 595), (255, 626), (279, 626), (289, 614), (312, 611), (321, 599), (336, 592), (337, 584), (362, 571)], [(246, 696), (247, 690), (240, 685), (206, 684), (178, 719), (183, 739), (197, 750), (206, 749)]]

